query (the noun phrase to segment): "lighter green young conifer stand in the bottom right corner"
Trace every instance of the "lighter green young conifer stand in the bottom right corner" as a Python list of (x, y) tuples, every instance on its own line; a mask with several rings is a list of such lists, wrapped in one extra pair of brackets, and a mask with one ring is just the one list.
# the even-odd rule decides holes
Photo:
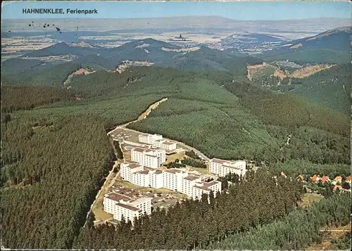
[[(303, 250), (322, 237), (323, 226), (341, 226), (351, 222), (351, 195), (333, 195), (284, 219), (235, 233), (208, 245), (210, 250)], [(344, 247), (346, 248), (346, 247)], [(348, 247), (347, 247), (348, 249)]]

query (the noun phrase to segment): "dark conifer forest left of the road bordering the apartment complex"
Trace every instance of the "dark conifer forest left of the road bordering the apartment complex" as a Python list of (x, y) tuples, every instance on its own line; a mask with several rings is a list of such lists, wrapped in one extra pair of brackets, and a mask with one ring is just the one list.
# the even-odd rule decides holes
[(113, 154), (97, 117), (1, 123), (1, 238), (11, 248), (70, 249)]

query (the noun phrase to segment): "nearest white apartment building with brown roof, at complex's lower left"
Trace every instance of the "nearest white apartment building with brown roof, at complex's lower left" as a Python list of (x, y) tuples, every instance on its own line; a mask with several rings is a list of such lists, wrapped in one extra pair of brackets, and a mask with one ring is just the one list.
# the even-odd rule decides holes
[(103, 199), (104, 211), (113, 214), (113, 219), (120, 221), (123, 218), (133, 221), (134, 217), (151, 214), (151, 198), (141, 196), (132, 199), (120, 193), (108, 193)]

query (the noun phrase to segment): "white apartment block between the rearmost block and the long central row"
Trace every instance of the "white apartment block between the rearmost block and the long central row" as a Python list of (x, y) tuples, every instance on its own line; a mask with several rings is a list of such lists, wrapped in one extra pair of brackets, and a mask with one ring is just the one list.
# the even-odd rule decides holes
[(166, 160), (165, 149), (132, 148), (131, 160), (139, 165), (158, 168)]

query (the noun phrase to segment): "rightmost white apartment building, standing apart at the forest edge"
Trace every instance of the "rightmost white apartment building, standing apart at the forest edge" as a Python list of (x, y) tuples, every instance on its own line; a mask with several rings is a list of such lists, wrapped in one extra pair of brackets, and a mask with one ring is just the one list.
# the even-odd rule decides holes
[(244, 160), (231, 161), (214, 158), (209, 161), (209, 172), (219, 176), (226, 176), (229, 173), (244, 176), (246, 174), (246, 162)]

